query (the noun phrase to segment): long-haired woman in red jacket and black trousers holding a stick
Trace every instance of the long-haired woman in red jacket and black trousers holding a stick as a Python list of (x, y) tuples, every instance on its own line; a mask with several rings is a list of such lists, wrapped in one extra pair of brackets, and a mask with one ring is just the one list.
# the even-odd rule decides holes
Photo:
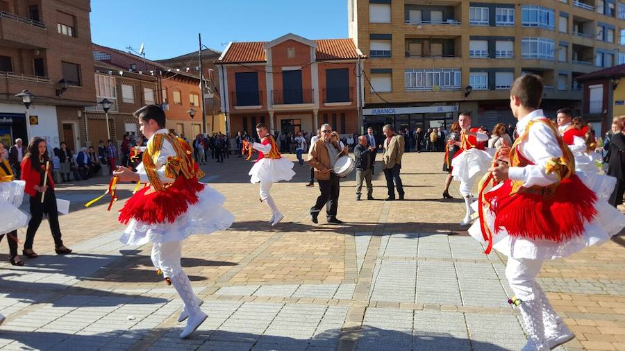
[[(30, 196), (31, 200), (31, 221), (28, 222), (26, 230), (26, 242), (24, 243), (24, 256), (35, 258), (38, 255), (33, 251), (33, 241), (35, 232), (43, 219), (43, 215), (48, 215), (50, 231), (54, 238), (54, 246), (58, 255), (66, 255), (72, 250), (66, 248), (61, 240), (60, 227), (58, 225), (58, 212), (56, 209), (56, 196), (54, 195), (54, 181), (50, 171), (45, 171), (46, 162), (49, 161), (46, 141), (40, 137), (34, 137), (28, 144), (28, 152), (22, 160), (22, 180), (26, 181), (24, 192)], [(48, 177), (47, 185), (44, 184), (44, 177)], [(44, 202), (41, 202), (42, 194)]]

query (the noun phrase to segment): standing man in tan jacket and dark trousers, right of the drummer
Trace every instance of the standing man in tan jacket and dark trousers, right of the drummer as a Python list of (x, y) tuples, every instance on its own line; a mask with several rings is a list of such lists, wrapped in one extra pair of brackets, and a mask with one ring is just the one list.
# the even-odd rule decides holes
[(386, 178), (386, 187), (388, 188), (386, 200), (395, 200), (395, 187), (397, 187), (399, 200), (403, 200), (405, 193), (403, 192), (401, 178), (399, 178), (404, 146), (403, 137), (395, 135), (395, 130), (390, 124), (384, 126), (382, 132), (386, 135), (386, 139), (384, 139), (384, 153), (382, 155), (382, 169)]

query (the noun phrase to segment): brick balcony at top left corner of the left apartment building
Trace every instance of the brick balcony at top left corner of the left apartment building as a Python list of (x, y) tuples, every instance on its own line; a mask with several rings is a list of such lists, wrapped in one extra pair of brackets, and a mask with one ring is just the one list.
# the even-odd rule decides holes
[(0, 41), (5, 46), (17, 44), (20, 48), (45, 49), (48, 47), (46, 25), (33, 19), (0, 11)]

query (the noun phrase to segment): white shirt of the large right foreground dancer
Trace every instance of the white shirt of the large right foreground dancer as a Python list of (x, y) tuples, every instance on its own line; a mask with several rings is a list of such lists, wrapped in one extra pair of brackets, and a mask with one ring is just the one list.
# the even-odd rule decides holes
[[(523, 135), (529, 121), (544, 118), (542, 110), (535, 110), (519, 119), (517, 131)], [(556, 173), (547, 174), (545, 165), (553, 157), (562, 157), (562, 150), (558, 145), (556, 135), (549, 126), (544, 123), (534, 123), (530, 128), (529, 135), (519, 144), (519, 150), (523, 157), (533, 164), (524, 167), (510, 167), (508, 177), (512, 180), (522, 180), (524, 187), (538, 185), (545, 187), (560, 180)]]

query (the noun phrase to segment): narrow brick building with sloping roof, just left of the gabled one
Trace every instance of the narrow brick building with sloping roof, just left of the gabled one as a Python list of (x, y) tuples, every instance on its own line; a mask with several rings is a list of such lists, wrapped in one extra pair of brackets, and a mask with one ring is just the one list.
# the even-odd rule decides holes
[[(226, 118), (222, 113), (221, 97), (219, 94), (219, 75), (217, 74), (217, 67), (214, 63), (215, 60), (219, 59), (220, 55), (222, 55), (220, 51), (213, 49), (202, 50), (205, 96), (204, 108), (206, 109), (207, 132), (224, 132), (226, 130)], [(190, 67), (193, 72), (199, 71), (199, 53), (197, 51), (174, 58), (156, 60), (156, 62), (175, 69), (186, 69), (186, 67)]]

